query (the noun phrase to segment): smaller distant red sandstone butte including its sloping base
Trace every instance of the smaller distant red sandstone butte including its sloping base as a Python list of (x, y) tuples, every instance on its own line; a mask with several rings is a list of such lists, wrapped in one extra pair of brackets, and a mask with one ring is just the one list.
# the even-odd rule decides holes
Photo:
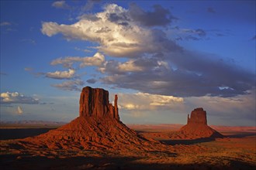
[(179, 131), (183, 138), (223, 138), (223, 135), (207, 125), (206, 111), (202, 107), (192, 110), (188, 121)]

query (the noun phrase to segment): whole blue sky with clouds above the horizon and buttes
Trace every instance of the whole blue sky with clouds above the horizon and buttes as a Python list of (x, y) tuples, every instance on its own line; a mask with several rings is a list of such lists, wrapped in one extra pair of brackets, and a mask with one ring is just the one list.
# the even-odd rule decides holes
[(82, 87), (125, 124), (256, 126), (255, 1), (1, 1), (1, 121), (78, 117)]

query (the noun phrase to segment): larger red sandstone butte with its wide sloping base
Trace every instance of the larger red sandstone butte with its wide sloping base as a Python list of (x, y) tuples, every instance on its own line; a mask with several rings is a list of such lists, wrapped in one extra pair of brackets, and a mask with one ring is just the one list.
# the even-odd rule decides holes
[(85, 149), (112, 151), (156, 151), (167, 146), (146, 139), (127, 128), (119, 120), (115, 95), (114, 106), (109, 103), (109, 92), (100, 88), (84, 87), (81, 91), (79, 117), (61, 128), (35, 137), (19, 140), (24, 148)]

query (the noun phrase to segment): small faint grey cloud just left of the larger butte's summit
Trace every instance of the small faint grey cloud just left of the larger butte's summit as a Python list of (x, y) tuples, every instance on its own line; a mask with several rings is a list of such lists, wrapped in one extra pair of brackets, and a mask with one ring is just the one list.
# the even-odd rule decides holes
[(52, 87), (57, 87), (60, 90), (77, 90), (81, 91), (81, 86), (85, 83), (82, 80), (71, 80), (71, 81), (64, 81), (63, 83), (52, 84)]

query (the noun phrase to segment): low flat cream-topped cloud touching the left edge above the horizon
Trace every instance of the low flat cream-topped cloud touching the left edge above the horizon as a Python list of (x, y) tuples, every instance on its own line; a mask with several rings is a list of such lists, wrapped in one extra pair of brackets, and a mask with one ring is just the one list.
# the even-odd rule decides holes
[(39, 100), (21, 93), (1, 93), (1, 104), (39, 104)]

